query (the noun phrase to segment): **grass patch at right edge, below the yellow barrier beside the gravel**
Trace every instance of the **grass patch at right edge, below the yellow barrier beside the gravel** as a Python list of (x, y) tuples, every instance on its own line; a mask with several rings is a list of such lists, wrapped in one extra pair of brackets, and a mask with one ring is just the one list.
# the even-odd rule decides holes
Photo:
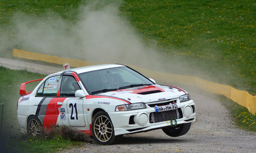
[(237, 105), (237, 103), (227, 99), (224, 96), (219, 96), (219, 101), (222, 103), (222, 105), (226, 106), (227, 109), (230, 109), (231, 114), (236, 121), (236, 125), (239, 128), (256, 132), (256, 115), (251, 114), (248, 109)]

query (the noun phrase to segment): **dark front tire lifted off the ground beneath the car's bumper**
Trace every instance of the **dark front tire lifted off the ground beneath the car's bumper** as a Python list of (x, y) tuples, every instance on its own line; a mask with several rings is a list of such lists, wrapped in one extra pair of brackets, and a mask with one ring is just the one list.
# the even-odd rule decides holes
[(175, 127), (162, 128), (163, 132), (171, 137), (182, 136), (189, 131), (191, 123), (181, 124)]

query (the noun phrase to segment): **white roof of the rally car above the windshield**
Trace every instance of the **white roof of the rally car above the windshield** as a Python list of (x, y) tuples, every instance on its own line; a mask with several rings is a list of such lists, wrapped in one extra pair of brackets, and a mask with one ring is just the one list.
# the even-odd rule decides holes
[[(118, 64), (108, 64), (108, 65), (91, 65), (91, 66), (84, 66), (81, 68), (74, 68), (69, 69), (65, 71), (75, 71), (78, 74), (82, 74), (84, 72), (90, 72), (90, 71), (96, 71), (100, 69), (109, 69), (109, 68), (117, 68), (117, 67), (123, 67), (124, 65), (118, 65)], [(64, 71), (57, 72), (56, 74), (61, 74)]]

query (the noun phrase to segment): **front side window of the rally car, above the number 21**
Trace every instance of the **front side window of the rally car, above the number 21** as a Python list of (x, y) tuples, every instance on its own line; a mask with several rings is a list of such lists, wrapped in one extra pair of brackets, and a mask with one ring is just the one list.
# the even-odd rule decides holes
[(75, 97), (76, 90), (81, 90), (76, 79), (69, 75), (64, 75), (61, 81), (61, 96)]

